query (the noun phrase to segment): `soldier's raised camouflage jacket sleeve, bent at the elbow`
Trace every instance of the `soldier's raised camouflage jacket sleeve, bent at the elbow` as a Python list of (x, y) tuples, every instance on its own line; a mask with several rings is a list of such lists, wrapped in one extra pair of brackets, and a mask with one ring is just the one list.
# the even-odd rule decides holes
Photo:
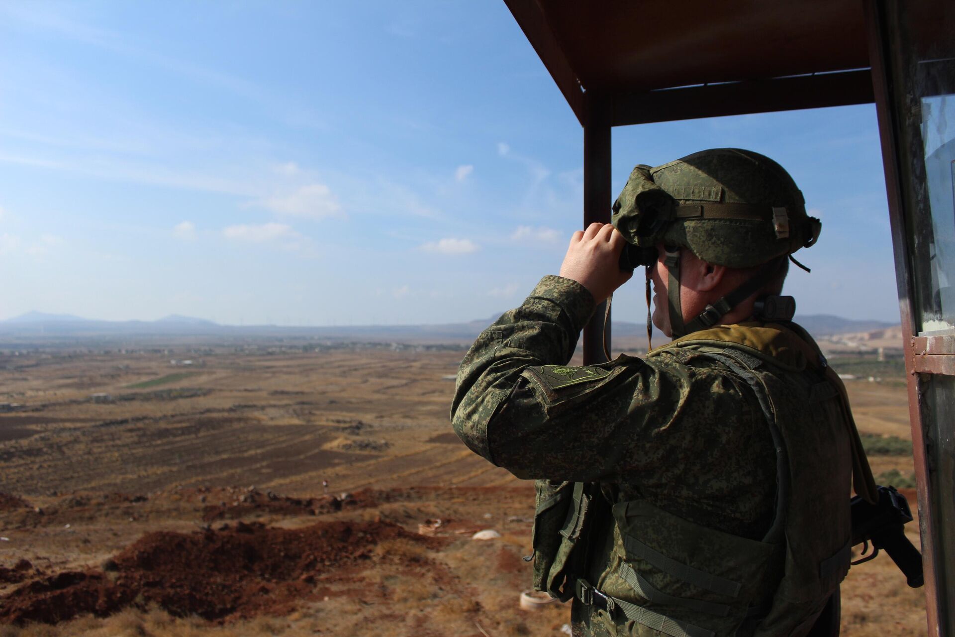
[[(647, 359), (621, 355), (590, 372), (555, 370), (570, 359), (593, 308), (583, 287), (545, 277), (477, 338), (452, 407), (455, 431), (472, 450), (519, 478), (668, 493), (687, 476), (696, 485), (728, 472), (751, 476), (755, 457), (773, 457), (749, 388), (710, 358), (672, 349)], [(562, 382), (561, 373), (582, 379)], [(751, 479), (761, 478), (742, 481)]]

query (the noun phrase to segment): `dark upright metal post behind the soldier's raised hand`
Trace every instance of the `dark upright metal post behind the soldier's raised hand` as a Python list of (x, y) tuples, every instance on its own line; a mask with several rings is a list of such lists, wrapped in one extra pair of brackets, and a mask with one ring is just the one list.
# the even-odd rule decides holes
[[(587, 91), (584, 94), (584, 228), (590, 223), (610, 222), (610, 97)], [(602, 303), (584, 327), (584, 365), (602, 363), (604, 339), (609, 346), (610, 322)]]

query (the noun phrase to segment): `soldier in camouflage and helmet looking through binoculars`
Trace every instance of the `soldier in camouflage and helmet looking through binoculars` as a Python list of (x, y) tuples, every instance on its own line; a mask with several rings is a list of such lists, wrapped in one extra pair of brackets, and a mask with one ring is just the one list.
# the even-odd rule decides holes
[[(850, 487), (874, 501), (875, 484), (844, 387), (779, 296), (819, 221), (737, 149), (637, 166), (612, 221), (574, 233), (561, 276), (457, 373), (457, 435), (536, 478), (535, 587), (574, 598), (574, 634), (805, 635), (830, 597), (838, 626)], [(621, 259), (647, 265), (673, 340), (569, 367)]]

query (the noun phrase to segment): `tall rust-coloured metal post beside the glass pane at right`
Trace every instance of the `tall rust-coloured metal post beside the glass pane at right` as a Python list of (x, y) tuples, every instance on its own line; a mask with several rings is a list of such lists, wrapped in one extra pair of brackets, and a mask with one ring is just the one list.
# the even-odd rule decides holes
[[(888, 197), (889, 223), (892, 229), (892, 245), (895, 252), (896, 282), (899, 288), (899, 309), (902, 318), (902, 342), (912, 343), (916, 335), (915, 311), (912, 296), (911, 258), (908, 244), (909, 211), (905, 210), (902, 196), (902, 166), (899, 131), (902, 122), (894, 104), (892, 91), (899, 78), (894, 77), (893, 65), (886, 32), (884, 9), (881, 0), (865, 0), (865, 22), (869, 41), (869, 63), (872, 68), (873, 93), (876, 99), (876, 115), (879, 121), (882, 165), (885, 170), (885, 190)], [(908, 213), (908, 214), (907, 214)], [(925, 615), (928, 634), (938, 637), (940, 632), (938, 577), (935, 572), (935, 538), (933, 511), (929, 494), (928, 469), (925, 462), (925, 441), (922, 426), (922, 396), (919, 374), (915, 370), (914, 350), (905, 348), (905, 371), (908, 375), (909, 422), (912, 430), (912, 452), (915, 459), (915, 475), (918, 486), (919, 526), (922, 537), (922, 563), (925, 582)]]

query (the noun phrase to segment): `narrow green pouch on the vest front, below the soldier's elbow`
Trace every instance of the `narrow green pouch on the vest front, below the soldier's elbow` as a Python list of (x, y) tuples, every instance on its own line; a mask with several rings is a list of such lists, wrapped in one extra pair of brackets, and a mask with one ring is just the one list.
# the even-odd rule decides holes
[(573, 583), (564, 586), (564, 581), (583, 535), (590, 497), (581, 482), (536, 480), (534, 488), (533, 585), (566, 602), (574, 590)]

